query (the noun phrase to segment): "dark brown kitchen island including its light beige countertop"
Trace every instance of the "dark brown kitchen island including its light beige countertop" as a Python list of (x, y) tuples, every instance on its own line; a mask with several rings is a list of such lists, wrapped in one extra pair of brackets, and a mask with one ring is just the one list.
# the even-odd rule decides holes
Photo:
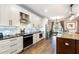
[(79, 34), (63, 33), (57, 35), (57, 54), (79, 54)]

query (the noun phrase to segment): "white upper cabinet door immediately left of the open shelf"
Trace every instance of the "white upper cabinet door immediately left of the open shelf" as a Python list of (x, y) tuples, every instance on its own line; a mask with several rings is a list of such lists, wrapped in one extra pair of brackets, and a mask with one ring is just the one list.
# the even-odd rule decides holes
[(12, 26), (20, 26), (20, 14), (18, 7), (12, 5), (11, 6), (11, 20), (12, 20)]

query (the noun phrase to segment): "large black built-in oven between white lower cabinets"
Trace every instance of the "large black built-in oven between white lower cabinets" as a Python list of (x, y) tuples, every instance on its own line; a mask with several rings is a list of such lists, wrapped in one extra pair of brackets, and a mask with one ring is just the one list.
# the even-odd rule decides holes
[(23, 35), (23, 48), (33, 44), (33, 34)]

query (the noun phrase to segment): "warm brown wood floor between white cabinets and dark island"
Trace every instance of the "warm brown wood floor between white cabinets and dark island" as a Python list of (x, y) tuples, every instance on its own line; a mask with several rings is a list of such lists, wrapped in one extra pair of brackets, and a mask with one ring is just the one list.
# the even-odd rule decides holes
[(33, 46), (27, 48), (21, 54), (55, 54), (55, 48), (52, 48), (52, 39), (43, 39)]

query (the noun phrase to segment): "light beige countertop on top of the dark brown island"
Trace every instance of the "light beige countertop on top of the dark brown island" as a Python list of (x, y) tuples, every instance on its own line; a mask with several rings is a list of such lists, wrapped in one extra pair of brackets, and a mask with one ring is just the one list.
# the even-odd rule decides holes
[(76, 34), (76, 33), (63, 33), (63, 34), (58, 34), (57, 38), (66, 38), (66, 39), (79, 40), (79, 34)]

